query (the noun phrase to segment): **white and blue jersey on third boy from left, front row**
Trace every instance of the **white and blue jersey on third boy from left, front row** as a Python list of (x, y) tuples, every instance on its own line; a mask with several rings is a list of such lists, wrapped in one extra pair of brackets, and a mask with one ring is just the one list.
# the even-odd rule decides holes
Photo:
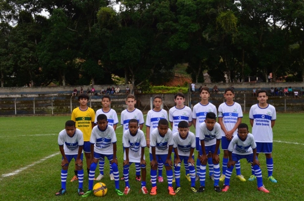
[[(133, 136), (129, 130), (126, 130), (122, 136), (122, 143), (124, 148), (129, 148), (129, 162), (141, 162), (142, 148), (147, 147), (144, 132), (138, 129)], [(126, 151), (123, 159), (126, 159)]]

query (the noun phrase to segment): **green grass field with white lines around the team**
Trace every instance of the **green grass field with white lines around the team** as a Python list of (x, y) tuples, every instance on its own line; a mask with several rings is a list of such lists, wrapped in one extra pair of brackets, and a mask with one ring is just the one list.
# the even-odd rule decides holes
[[(267, 180), (265, 156), (260, 155), (263, 182), (270, 194), (256, 190), (256, 182), (241, 182), (235, 178), (235, 170), (231, 177), (231, 187), (227, 193), (216, 193), (213, 182), (206, 179), (206, 190), (203, 194), (194, 194), (190, 191), (190, 182), (185, 178), (184, 169), (181, 172), (182, 190), (174, 200), (304, 200), (303, 195), (303, 162), (301, 154), (304, 149), (303, 137), (304, 113), (278, 113), (274, 131), (273, 158), (274, 177), (278, 183), (273, 184)], [(120, 117), (118, 117), (120, 119)], [(73, 176), (73, 165), (70, 165), (67, 178), (67, 193), (62, 197), (55, 197), (60, 186), (61, 155), (57, 145), (58, 133), (64, 129), (64, 123), (69, 116), (51, 117), (0, 117), (0, 200), (2, 201), (41, 201), (41, 200), (172, 200), (167, 193), (167, 183), (164, 174), (164, 183), (157, 183), (157, 196), (139, 193), (140, 182), (135, 181), (135, 167), (130, 168), (131, 192), (127, 196), (119, 197), (114, 193), (114, 182), (108, 176), (108, 163), (106, 161), (104, 174), (101, 180), (108, 186), (105, 198), (93, 195), (81, 198), (77, 194), (78, 182), (69, 182)], [(244, 114), (244, 123), (249, 123), (248, 114)], [(144, 127), (144, 131), (145, 131)], [(250, 129), (251, 130), (251, 129)], [(191, 127), (194, 132), (194, 128)], [(122, 127), (116, 130), (117, 157), (119, 173), (122, 176)], [(195, 154), (196, 155), (196, 154)], [(221, 153), (222, 157), (222, 153)], [(220, 158), (221, 158), (220, 157)], [(149, 164), (149, 150), (146, 149), (147, 164)], [(72, 161), (73, 164), (74, 161)], [(246, 179), (251, 175), (250, 164), (241, 160), (242, 174)], [(85, 164), (85, 162), (84, 162)], [(148, 166), (147, 166), (148, 167)], [(86, 165), (84, 165), (86, 168)], [(96, 175), (98, 175), (97, 170)], [(147, 188), (150, 191), (150, 167), (147, 169)], [(175, 185), (175, 184), (174, 184)], [(220, 187), (222, 187), (220, 182)], [(120, 182), (120, 189), (124, 189), (124, 182)], [(88, 177), (85, 173), (84, 189), (88, 187)], [(199, 187), (199, 182), (197, 182)]]

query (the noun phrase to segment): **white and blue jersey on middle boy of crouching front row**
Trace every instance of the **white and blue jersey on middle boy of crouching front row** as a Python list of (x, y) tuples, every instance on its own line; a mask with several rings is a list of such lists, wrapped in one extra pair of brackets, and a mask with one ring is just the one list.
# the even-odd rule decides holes
[(152, 147), (155, 147), (155, 154), (168, 154), (169, 146), (173, 146), (172, 131), (168, 129), (164, 136), (161, 136), (158, 129), (154, 129), (150, 135), (150, 153), (152, 153)]

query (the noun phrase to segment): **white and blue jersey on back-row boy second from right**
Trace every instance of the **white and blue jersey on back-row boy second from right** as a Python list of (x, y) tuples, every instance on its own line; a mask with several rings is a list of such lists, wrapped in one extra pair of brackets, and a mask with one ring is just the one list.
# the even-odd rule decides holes
[[(231, 131), (238, 121), (238, 118), (243, 118), (242, 107), (239, 103), (234, 102), (233, 105), (227, 105), (223, 102), (218, 107), (218, 117), (222, 117), (222, 122), (227, 131)], [(237, 130), (234, 131), (233, 136), (237, 135)], [(222, 131), (222, 136), (225, 136)]]

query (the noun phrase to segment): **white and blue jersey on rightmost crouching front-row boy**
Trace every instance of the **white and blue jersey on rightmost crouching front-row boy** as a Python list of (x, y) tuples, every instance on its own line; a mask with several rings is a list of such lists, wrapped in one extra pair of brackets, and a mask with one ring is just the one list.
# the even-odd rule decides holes
[(229, 144), (228, 151), (239, 155), (247, 155), (253, 153), (255, 148), (253, 135), (249, 133), (244, 141), (239, 138), (239, 135), (234, 136)]

